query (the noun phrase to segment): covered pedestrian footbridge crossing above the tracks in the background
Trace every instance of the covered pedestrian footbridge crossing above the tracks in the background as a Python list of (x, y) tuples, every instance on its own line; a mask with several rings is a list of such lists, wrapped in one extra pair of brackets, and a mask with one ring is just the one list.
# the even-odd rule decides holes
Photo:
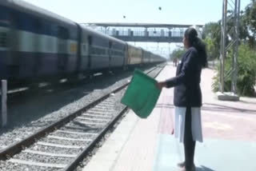
[(184, 32), (190, 26), (202, 33), (203, 25), (146, 24), (146, 23), (85, 23), (86, 26), (126, 42), (182, 42)]

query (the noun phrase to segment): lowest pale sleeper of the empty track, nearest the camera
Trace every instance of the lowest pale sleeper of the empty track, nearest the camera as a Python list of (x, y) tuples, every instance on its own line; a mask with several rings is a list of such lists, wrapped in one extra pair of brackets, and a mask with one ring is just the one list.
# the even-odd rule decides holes
[(23, 164), (23, 165), (36, 165), (40, 167), (51, 167), (51, 168), (65, 168), (66, 165), (62, 164), (54, 164), (54, 163), (42, 163), (42, 162), (37, 162), (37, 161), (23, 161), (19, 159), (10, 159), (8, 162), (11, 163), (18, 163), (18, 164)]

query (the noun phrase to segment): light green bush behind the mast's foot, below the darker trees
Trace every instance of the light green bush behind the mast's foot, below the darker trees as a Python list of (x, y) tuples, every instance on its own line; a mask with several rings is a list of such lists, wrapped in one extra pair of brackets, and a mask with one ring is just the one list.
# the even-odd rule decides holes
[[(226, 58), (225, 73), (232, 67), (231, 51)], [(212, 88), (214, 92), (219, 90), (219, 65), (218, 74), (214, 77)], [(249, 46), (242, 44), (238, 49), (238, 94), (241, 96), (253, 96), (256, 81), (256, 51), (250, 50)], [(226, 78), (224, 91), (231, 91), (231, 77)]]

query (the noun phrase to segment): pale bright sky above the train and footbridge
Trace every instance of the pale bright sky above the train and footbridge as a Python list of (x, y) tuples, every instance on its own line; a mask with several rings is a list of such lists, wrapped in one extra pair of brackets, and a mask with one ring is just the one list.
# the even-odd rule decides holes
[[(25, 1), (78, 23), (142, 22), (204, 25), (207, 22), (218, 22), (222, 18), (222, 0)], [(231, 0), (229, 1), (231, 2)], [(241, 0), (241, 10), (249, 3), (250, 0)], [(162, 7), (162, 10), (158, 10), (159, 6)], [(123, 18), (123, 16), (126, 16), (126, 18)], [(145, 45), (145, 43), (142, 45)], [(153, 46), (156, 47), (155, 45)], [(174, 49), (174, 45), (171, 45), (171, 49)]]

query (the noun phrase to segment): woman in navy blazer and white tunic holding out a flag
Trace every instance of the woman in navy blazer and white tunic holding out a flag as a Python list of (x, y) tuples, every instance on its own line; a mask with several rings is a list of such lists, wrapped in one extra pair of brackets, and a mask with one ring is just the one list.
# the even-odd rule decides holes
[(195, 141), (202, 142), (200, 88), (202, 68), (207, 66), (206, 46), (194, 28), (185, 31), (186, 53), (178, 64), (176, 77), (158, 82), (159, 89), (174, 87), (175, 137), (184, 144), (185, 161), (178, 163), (182, 171), (194, 171)]

